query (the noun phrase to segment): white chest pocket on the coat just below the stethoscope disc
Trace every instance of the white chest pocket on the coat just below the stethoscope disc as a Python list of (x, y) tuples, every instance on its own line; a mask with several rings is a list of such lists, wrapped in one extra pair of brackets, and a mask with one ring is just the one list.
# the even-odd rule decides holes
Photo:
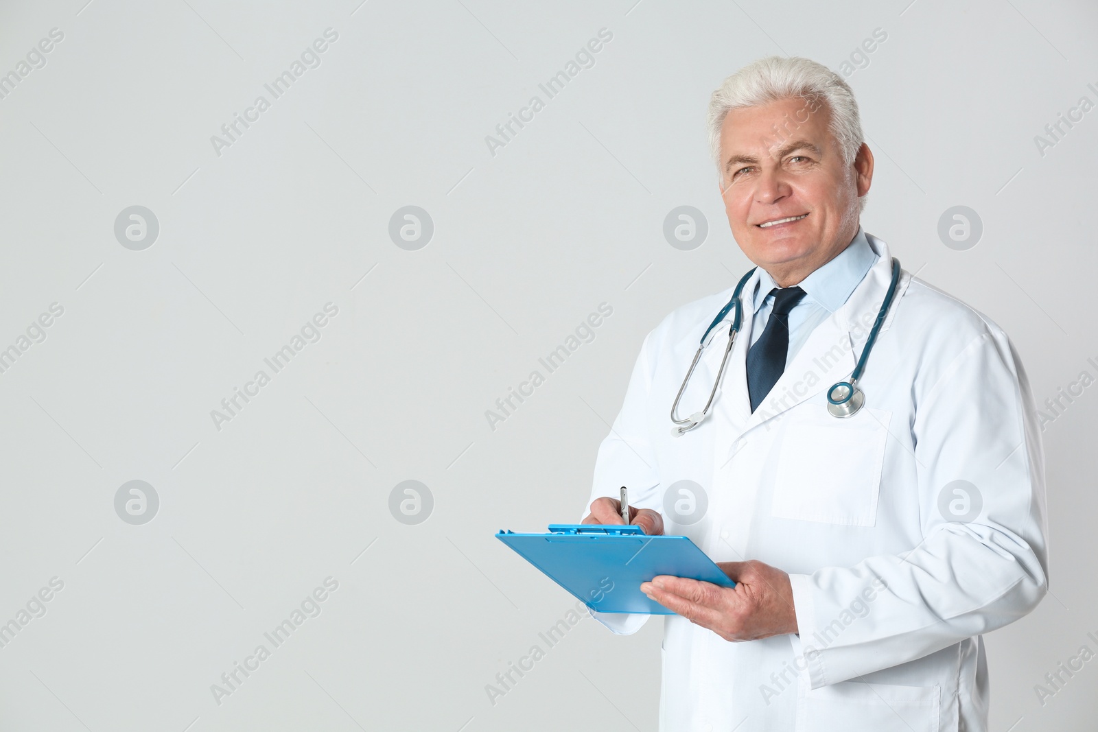
[(863, 407), (832, 417), (821, 404), (785, 419), (771, 514), (802, 521), (873, 526), (892, 413)]

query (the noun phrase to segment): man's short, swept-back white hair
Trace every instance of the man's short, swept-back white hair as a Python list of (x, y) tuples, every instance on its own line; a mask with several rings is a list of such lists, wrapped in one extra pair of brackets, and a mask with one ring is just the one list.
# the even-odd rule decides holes
[[(720, 170), (720, 129), (728, 112), (743, 106), (760, 106), (784, 99), (802, 99), (826, 105), (830, 112), (828, 128), (839, 145), (843, 166), (854, 162), (865, 142), (858, 101), (850, 85), (838, 74), (808, 58), (769, 56), (748, 64), (721, 82), (709, 98), (707, 128), (709, 151)], [(802, 121), (804, 122), (804, 121)], [(859, 201), (864, 206), (865, 196)]]

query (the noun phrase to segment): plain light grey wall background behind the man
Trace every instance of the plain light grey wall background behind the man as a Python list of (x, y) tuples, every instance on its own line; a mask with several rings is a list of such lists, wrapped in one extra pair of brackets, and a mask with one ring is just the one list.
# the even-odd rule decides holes
[[(630, 638), (584, 619), (490, 703), (573, 604), (493, 533), (576, 518), (645, 334), (748, 267), (703, 121), (759, 56), (838, 69), (883, 29), (849, 77), (877, 162), (866, 230), (1004, 326), (1039, 401), (1098, 375), (1098, 111), (1043, 156), (1033, 139), (1098, 102), (1094, 3), (359, 1), (0, 10), (0, 74), (65, 36), (0, 100), (0, 348), (65, 308), (0, 374), (0, 623), (65, 583), (0, 647), (0, 729), (654, 730), (659, 619)], [(321, 66), (217, 156), (328, 27)], [(491, 155), (603, 27), (595, 65)], [(159, 221), (143, 251), (113, 233), (132, 205)], [(416, 251), (388, 234), (405, 205), (435, 225)], [(709, 226), (691, 251), (662, 233), (680, 205)], [(954, 205), (984, 225), (965, 251), (937, 234)], [(322, 339), (216, 430), (327, 302)], [(602, 302), (595, 339), (490, 429)], [(1054, 595), (987, 638), (997, 731), (1095, 729), (1098, 661), (1044, 706), (1033, 687), (1098, 650), (1096, 408), (1091, 386), (1043, 433)], [(160, 499), (143, 526), (114, 510), (132, 480)], [(434, 496), (416, 526), (389, 510), (406, 480)], [(216, 705), (327, 576), (322, 613)]]

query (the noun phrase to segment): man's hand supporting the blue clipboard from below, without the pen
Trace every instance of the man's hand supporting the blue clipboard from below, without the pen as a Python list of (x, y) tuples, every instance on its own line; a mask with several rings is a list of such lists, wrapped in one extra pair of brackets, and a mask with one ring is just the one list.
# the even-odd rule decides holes
[(758, 561), (718, 562), (717, 566), (736, 581), (735, 587), (661, 574), (641, 583), (640, 589), (726, 641), (797, 632), (789, 575)]

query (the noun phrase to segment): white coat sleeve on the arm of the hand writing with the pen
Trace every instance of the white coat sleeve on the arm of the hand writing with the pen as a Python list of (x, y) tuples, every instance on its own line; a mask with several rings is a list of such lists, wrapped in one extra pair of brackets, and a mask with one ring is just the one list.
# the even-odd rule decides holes
[[(625, 402), (618, 413), (609, 435), (598, 447), (595, 459), (594, 480), (591, 496), (580, 520), (591, 513), (595, 498), (609, 496), (618, 498), (620, 487), (629, 489), (629, 504), (638, 508), (651, 508), (662, 515), (659, 495), (660, 480), (657, 474), (656, 455), (647, 438), (646, 416), (652, 385), (649, 353), (652, 334), (645, 338), (640, 354), (629, 378)], [(670, 423), (669, 423), (670, 425)], [(668, 427), (670, 429), (670, 426)], [(613, 593), (613, 590), (610, 590)], [(635, 612), (597, 612), (592, 617), (619, 635), (629, 635), (648, 621), (650, 616)]]

